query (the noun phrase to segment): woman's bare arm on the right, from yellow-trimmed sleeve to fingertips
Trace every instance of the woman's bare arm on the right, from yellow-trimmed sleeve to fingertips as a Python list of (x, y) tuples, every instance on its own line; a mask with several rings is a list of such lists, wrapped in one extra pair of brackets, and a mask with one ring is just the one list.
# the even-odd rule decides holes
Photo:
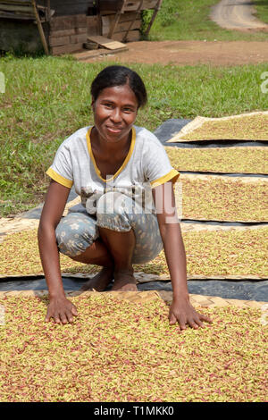
[(153, 189), (157, 221), (163, 240), (166, 262), (171, 274), (173, 299), (170, 307), (170, 323), (180, 323), (184, 330), (188, 323), (192, 328), (204, 327), (202, 320), (211, 323), (205, 315), (198, 314), (191, 306), (187, 287), (187, 262), (180, 223), (177, 216), (172, 181)]

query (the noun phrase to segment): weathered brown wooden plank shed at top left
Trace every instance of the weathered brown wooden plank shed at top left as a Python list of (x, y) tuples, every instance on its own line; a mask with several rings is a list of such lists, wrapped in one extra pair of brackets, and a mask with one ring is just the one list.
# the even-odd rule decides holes
[[(140, 39), (141, 13), (162, 0), (0, 0), (0, 50), (61, 55), (83, 51), (88, 37)], [(149, 28), (150, 29), (149, 25)]]

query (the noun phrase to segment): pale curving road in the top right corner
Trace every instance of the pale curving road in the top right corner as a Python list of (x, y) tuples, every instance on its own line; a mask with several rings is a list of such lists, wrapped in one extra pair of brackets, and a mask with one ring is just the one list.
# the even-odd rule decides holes
[(210, 17), (225, 29), (268, 29), (268, 25), (259, 21), (254, 13), (250, 1), (222, 0), (213, 7)]

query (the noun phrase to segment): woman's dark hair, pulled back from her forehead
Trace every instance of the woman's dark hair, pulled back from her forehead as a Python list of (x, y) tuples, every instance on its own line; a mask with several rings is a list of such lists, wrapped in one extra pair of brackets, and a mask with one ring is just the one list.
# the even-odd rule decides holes
[(129, 85), (138, 100), (138, 108), (147, 103), (147, 89), (136, 71), (122, 65), (110, 65), (105, 67), (91, 84), (91, 95), (94, 100), (105, 88)]

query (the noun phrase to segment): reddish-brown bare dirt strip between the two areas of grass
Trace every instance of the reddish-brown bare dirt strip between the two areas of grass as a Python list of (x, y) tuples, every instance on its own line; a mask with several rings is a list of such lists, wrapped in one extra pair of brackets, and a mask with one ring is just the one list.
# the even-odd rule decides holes
[(174, 65), (236, 65), (268, 63), (268, 42), (247, 41), (160, 41), (130, 42), (129, 51), (85, 60), (94, 63), (113, 60), (121, 63)]

